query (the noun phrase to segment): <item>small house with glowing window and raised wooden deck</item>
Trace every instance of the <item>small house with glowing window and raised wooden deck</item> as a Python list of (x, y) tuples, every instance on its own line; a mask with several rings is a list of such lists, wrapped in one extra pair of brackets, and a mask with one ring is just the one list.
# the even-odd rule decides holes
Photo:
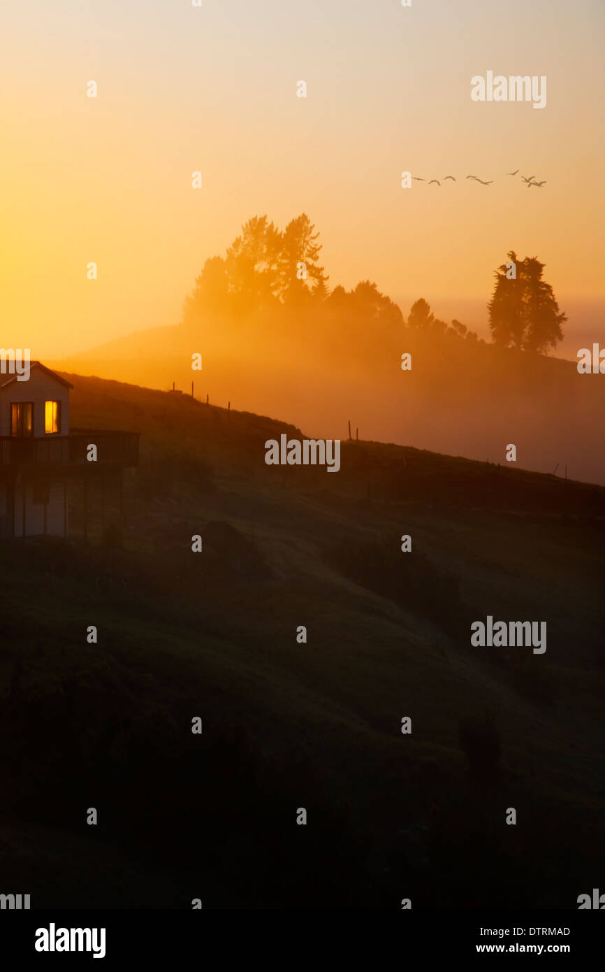
[[(84, 537), (121, 522), (122, 479), (138, 465), (139, 434), (70, 428), (73, 386), (40, 362), (26, 380), (0, 373), (0, 538)], [(99, 516), (100, 507), (100, 516)]]

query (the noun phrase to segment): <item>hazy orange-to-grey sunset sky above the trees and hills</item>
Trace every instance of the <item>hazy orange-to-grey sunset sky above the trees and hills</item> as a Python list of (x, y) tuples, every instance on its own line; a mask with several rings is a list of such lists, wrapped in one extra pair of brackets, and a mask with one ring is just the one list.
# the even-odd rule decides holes
[[(3, 5), (2, 344), (56, 358), (176, 324), (247, 219), (301, 212), (331, 286), (476, 326), (515, 249), (573, 309), (569, 346), (605, 340), (604, 28), (601, 0)], [(472, 101), (489, 70), (546, 76), (546, 107)]]

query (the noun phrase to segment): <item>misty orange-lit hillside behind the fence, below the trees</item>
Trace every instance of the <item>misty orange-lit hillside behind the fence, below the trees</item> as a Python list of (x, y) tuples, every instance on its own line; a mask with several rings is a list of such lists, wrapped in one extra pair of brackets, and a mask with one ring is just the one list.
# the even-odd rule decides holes
[[(143, 353), (142, 353), (143, 349)], [(412, 369), (401, 370), (401, 355)], [(203, 370), (191, 370), (191, 355)], [(256, 315), (245, 324), (208, 318), (139, 331), (63, 370), (148, 387), (176, 387), (211, 403), (281, 415), (323, 437), (392, 441), (492, 463), (514, 442), (524, 469), (605, 483), (605, 379), (578, 374), (576, 361), (502, 350), (448, 333), (336, 327), (319, 318)], [(480, 405), (478, 406), (478, 403)]]

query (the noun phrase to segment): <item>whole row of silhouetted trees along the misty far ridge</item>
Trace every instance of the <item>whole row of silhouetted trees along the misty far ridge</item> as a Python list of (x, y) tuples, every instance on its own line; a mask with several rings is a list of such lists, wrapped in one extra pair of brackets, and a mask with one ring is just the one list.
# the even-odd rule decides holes
[[(341, 286), (330, 290), (329, 277), (319, 263), (318, 239), (319, 232), (306, 213), (290, 220), (284, 230), (266, 216), (252, 217), (224, 257), (204, 263), (192, 294), (185, 299), (184, 323), (195, 325), (209, 313), (243, 319), (270, 309), (308, 308), (379, 330), (408, 327), (436, 337), (448, 333), (482, 340), (459, 321), (448, 325), (436, 318), (422, 297), (412, 304), (406, 321), (399, 306), (369, 280), (360, 281), (351, 291)], [(494, 271), (487, 303), (493, 344), (545, 354), (562, 340), (561, 326), (567, 318), (543, 278), (544, 265), (535, 257), (520, 260), (511, 250), (507, 262)]]

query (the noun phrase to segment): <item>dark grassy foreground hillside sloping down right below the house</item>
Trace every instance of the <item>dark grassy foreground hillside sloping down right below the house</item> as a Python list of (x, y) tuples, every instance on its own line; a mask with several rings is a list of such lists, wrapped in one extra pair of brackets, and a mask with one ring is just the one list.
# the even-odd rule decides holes
[[(38, 907), (574, 907), (605, 826), (605, 490), (365, 440), (338, 474), (267, 467), (296, 428), (66, 377), (72, 424), (141, 432), (141, 463), (123, 542), (0, 546), (7, 886), (27, 875)], [(546, 653), (471, 647), (487, 614), (547, 620)]]

